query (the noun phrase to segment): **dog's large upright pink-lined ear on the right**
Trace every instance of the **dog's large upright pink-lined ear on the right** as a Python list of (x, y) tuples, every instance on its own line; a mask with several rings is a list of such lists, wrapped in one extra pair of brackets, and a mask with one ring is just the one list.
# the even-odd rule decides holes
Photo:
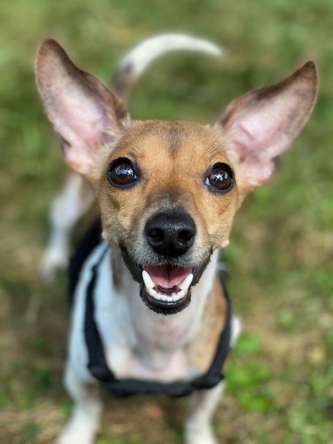
[(215, 127), (223, 146), (239, 162), (248, 189), (262, 185), (274, 171), (274, 158), (289, 148), (316, 101), (317, 74), (307, 62), (289, 77), (233, 101)]

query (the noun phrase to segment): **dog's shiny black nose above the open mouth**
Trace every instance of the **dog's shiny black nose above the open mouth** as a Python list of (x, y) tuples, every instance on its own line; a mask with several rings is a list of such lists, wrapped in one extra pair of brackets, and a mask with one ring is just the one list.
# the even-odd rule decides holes
[(194, 243), (196, 225), (186, 212), (157, 213), (146, 223), (148, 244), (156, 253), (179, 256)]

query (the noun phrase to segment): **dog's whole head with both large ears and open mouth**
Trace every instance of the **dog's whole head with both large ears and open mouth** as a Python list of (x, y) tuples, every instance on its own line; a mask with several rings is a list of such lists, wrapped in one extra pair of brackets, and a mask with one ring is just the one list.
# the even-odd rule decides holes
[(305, 125), (317, 85), (307, 62), (233, 101), (210, 127), (132, 121), (53, 40), (40, 46), (36, 76), (66, 162), (96, 190), (103, 236), (120, 247), (148, 307), (164, 314), (188, 305), (244, 196), (271, 178), (275, 157)]

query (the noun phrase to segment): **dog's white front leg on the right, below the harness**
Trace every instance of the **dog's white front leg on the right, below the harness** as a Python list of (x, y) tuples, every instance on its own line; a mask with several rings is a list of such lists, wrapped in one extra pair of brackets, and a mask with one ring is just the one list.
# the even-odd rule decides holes
[(185, 422), (186, 444), (216, 444), (212, 427), (212, 416), (223, 392), (220, 382), (210, 390), (194, 392), (189, 398), (189, 409)]

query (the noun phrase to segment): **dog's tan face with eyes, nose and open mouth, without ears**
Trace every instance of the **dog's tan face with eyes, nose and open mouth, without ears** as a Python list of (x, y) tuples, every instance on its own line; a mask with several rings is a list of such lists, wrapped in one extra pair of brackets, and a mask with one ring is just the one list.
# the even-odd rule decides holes
[(228, 241), (239, 203), (218, 137), (196, 123), (133, 123), (95, 186), (103, 235), (121, 247), (144, 301), (168, 314), (184, 308), (210, 255)]

